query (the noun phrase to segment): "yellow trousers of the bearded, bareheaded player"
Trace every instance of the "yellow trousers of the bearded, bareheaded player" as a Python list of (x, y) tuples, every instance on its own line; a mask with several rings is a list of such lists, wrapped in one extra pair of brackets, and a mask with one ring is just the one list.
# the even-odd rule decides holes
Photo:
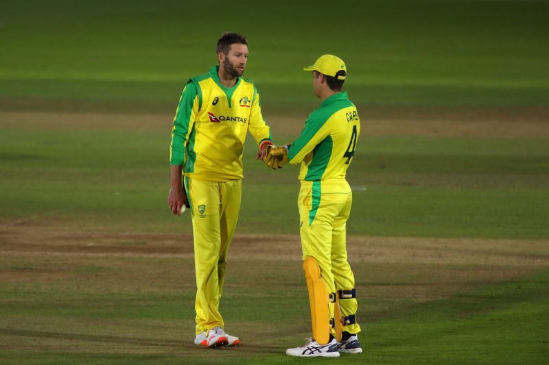
[(196, 334), (223, 327), (219, 301), (223, 292), (226, 257), (235, 233), (242, 180), (200, 181), (185, 177), (191, 205), (196, 273)]

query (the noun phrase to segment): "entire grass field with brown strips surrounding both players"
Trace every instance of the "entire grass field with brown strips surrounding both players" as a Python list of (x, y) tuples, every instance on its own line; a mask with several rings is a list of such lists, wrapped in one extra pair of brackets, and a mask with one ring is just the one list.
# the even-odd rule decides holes
[(276, 142), (318, 105), (301, 67), (322, 53), (349, 66), (364, 353), (335, 361), (547, 362), (549, 3), (315, 4), (3, 5), (0, 362), (305, 362), (284, 355), (309, 336), (297, 168), (268, 170), (251, 139), (221, 303), (242, 346), (192, 343), (190, 216), (166, 206), (170, 127), (227, 29), (249, 37), (246, 77)]

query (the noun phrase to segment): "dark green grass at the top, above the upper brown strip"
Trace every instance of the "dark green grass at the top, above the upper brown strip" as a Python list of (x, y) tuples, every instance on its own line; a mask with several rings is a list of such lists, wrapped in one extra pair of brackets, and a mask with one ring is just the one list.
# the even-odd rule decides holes
[(351, 1), (337, 18), (333, 6), (6, 4), (0, 97), (175, 103), (232, 29), (250, 38), (246, 76), (266, 105), (312, 105), (301, 67), (322, 53), (346, 60), (360, 105), (549, 105), (546, 2)]

